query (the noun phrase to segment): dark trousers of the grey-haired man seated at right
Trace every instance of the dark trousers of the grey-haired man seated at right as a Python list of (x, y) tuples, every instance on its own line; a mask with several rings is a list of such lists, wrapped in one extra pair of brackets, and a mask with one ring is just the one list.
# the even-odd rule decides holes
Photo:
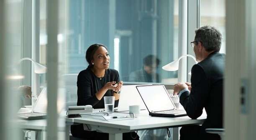
[(200, 125), (184, 126), (180, 129), (180, 140), (220, 140), (218, 134), (205, 132), (205, 128)]

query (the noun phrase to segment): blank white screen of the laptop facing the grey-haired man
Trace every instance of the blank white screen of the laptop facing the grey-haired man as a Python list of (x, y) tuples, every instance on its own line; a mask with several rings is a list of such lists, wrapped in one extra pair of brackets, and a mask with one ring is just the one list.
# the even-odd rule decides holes
[(146, 85), (137, 86), (136, 88), (150, 112), (173, 110), (175, 108), (164, 85)]

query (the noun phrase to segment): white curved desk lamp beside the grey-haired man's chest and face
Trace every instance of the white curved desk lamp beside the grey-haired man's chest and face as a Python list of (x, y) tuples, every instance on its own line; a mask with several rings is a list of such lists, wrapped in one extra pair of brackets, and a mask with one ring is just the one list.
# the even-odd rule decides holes
[[(183, 57), (191, 57), (191, 58), (193, 58), (193, 60), (197, 64), (197, 60), (195, 59), (195, 57), (193, 55), (182, 55), (181, 57), (179, 57), (179, 59), (174, 60), (174, 61), (170, 62), (169, 64), (164, 65), (162, 67), (162, 69), (167, 70), (167, 71), (179, 70), (179, 60), (181, 60)], [(188, 74), (191, 75), (191, 72), (189, 72)]]

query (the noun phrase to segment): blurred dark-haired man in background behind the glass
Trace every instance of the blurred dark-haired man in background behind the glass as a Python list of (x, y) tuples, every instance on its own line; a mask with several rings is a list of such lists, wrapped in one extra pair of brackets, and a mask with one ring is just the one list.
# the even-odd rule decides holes
[(133, 82), (161, 82), (156, 69), (160, 60), (154, 55), (147, 55), (143, 58), (143, 69), (132, 72), (129, 81)]

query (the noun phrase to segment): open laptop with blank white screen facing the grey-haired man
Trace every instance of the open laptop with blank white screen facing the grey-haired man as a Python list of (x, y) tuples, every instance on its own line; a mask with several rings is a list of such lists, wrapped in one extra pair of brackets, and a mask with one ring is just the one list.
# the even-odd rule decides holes
[(187, 115), (185, 110), (175, 107), (164, 85), (136, 86), (149, 115), (156, 117), (180, 117)]

